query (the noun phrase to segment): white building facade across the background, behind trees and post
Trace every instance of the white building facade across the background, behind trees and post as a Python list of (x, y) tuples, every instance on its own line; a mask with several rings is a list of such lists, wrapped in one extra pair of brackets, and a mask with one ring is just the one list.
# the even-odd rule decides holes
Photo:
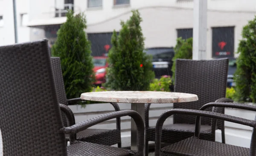
[[(131, 10), (140, 11), (145, 47), (175, 46), (177, 30), (193, 27), (193, 0), (130, 0), (130, 5), (114, 6), (113, 0), (102, 0), (102, 7), (87, 8), (87, 0), (74, 0), (75, 13), (84, 12), (87, 33), (113, 32), (121, 28)], [(43, 29), (20, 26), (20, 14), (29, 14), (33, 25), (61, 24), (66, 17), (55, 17), (55, 0), (17, 0), (18, 41), (44, 38)], [(207, 58), (212, 57), (212, 27), (235, 26), (235, 52), (242, 27), (256, 14), (256, 0), (208, 0)], [(0, 0), (0, 45), (14, 43), (12, 0)], [(237, 54), (235, 54), (235, 57)]]

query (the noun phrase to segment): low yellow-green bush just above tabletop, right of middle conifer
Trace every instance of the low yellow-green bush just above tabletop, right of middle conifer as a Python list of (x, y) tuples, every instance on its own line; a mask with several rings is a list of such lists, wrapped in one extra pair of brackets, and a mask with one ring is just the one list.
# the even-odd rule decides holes
[(150, 91), (170, 91), (170, 85), (172, 84), (172, 79), (170, 76), (164, 75), (160, 79), (155, 78), (152, 83), (150, 83)]

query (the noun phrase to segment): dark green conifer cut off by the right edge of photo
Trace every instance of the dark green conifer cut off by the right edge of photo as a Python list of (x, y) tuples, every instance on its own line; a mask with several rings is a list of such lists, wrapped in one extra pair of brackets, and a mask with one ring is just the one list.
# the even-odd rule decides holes
[(237, 53), (236, 101), (256, 102), (256, 17), (244, 26)]

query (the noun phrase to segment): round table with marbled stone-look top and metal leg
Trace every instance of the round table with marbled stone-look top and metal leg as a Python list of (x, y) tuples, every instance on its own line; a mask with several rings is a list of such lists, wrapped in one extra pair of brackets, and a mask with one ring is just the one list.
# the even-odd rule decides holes
[[(197, 101), (198, 96), (181, 92), (156, 91), (105, 91), (85, 92), (81, 99), (102, 102), (131, 103), (131, 110), (137, 111), (145, 120), (145, 104), (147, 103), (177, 103)], [(131, 150), (137, 150), (137, 128), (131, 120)]]

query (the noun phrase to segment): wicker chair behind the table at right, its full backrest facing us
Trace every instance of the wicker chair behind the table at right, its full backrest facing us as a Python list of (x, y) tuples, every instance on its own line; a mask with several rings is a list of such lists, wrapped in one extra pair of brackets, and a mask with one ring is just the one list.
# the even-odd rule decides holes
[[(224, 98), (226, 95), (228, 59), (215, 59), (207, 61), (195, 61), (186, 59), (176, 60), (175, 92), (185, 92), (198, 95), (199, 100), (186, 103), (174, 103), (174, 108), (199, 110), (209, 102), (233, 102)], [(155, 127), (149, 127), (149, 107), (145, 105), (145, 151), (148, 154), (148, 141), (155, 141)], [(211, 111), (210, 108), (207, 109)], [(224, 113), (224, 109), (218, 110)], [(173, 116), (173, 124), (163, 127), (163, 139), (165, 143), (175, 143), (194, 135), (195, 117)], [(218, 122), (218, 129), (222, 131), (224, 138), (224, 121)], [(201, 138), (215, 141), (215, 133), (211, 130), (211, 120), (202, 118)]]

